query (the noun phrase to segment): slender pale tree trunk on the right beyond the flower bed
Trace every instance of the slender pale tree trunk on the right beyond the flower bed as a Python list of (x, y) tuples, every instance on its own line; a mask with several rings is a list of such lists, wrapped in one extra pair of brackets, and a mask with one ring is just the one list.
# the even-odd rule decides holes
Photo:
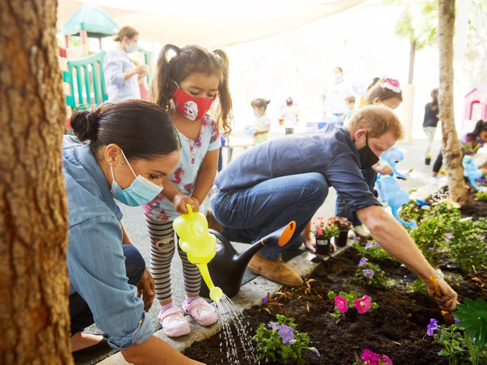
[(443, 164), (448, 176), (450, 199), (465, 205), (471, 202), (463, 178), (462, 146), (455, 128), (453, 106), (453, 35), (455, 32), (455, 0), (439, 0), (438, 49), (440, 87), (438, 107), (442, 131)]

